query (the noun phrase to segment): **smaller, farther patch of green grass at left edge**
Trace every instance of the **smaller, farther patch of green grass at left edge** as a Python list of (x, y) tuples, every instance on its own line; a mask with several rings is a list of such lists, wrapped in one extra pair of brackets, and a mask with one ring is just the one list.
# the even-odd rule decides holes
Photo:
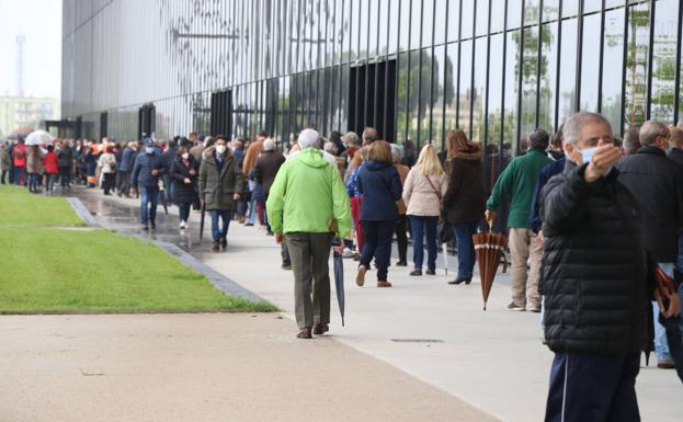
[(25, 187), (0, 186), (2, 226), (84, 226), (64, 197), (31, 194)]

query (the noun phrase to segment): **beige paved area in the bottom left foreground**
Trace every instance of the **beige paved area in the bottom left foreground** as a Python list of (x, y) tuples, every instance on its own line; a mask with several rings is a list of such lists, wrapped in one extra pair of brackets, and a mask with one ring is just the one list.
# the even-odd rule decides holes
[(277, 318), (2, 317), (0, 421), (493, 422), (332, 339), (297, 341)]

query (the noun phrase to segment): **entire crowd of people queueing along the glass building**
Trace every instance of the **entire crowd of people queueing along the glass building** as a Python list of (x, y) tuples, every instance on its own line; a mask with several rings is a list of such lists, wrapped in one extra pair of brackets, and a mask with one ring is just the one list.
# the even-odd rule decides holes
[[(670, 350), (668, 331), (683, 328), (683, 124), (650, 121), (622, 139), (602, 115), (574, 114), (556, 134), (528, 134), (490, 193), (482, 147), (460, 129), (447, 133), (443, 152), (431, 142), (403, 149), (373, 127), (328, 138), (304, 129), (286, 150), (264, 132), (248, 140), (192, 133), (105, 141), (96, 153), (73, 147), (56, 142), (39, 155), (56, 153), (61, 175), (59, 151), (70, 149), (68, 181), (84, 174), (104, 194), (139, 196), (144, 230), (155, 229), (161, 196), (178, 205), (181, 230), (193, 207), (210, 216), (214, 251), (227, 249), (232, 220), (274, 236), (282, 267), (293, 271), (300, 339), (329, 330), (331, 251), (358, 261), (358, 286), (374, 266), (376, 286), (391, 287), (390, 266), (435, 274), (445, 227), (458, 259), (448, 283), (468, 285), (473, 235), (506, 214), (508, 309), (543, 312), (555, 352), (547, 421), (637, 421), (634, 385), (649, 339), (658, 367), (676, 364), (681, 345)], [(83, 150), (92, 157), (81, 171)], [(8, 152), (10, 180), (21, 183), (26, 172), (16, 168), (31, 152), (21, 141), (3, 147), (3, 182)]]

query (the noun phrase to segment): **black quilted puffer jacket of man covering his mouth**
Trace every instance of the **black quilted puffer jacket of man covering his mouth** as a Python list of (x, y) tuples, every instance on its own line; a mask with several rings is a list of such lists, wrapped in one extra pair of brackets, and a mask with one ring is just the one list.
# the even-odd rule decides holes
[(542, 191), (546, 341), (558, 353), (637, 352), (652, 290), (638, 205), (617, 171), (587, 183), (584, 170), (568, 161)]

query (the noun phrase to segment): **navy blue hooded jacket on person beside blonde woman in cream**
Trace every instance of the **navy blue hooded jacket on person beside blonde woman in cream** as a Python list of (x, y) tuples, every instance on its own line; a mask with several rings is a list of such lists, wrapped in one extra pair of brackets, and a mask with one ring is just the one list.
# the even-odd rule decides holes
[(398, 219), (396, 202), (401, 198), (401, 179), (394, 164), (369, 160), (358, 172), (356, 189), (363, 194), (361, 220)]

